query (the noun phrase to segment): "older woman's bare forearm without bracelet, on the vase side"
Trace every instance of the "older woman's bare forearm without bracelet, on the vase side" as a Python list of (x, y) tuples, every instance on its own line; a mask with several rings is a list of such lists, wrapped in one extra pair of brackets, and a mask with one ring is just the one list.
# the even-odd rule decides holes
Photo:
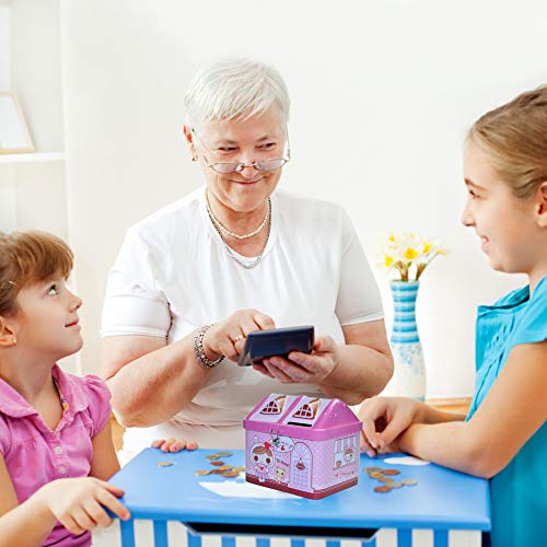
[(340, 346), (339, 351), (338, 365), (319, 384), (327, 397), (358, 405), (365, 398), (377, 395), (392, 377), (391, 354), (357, 344)]

